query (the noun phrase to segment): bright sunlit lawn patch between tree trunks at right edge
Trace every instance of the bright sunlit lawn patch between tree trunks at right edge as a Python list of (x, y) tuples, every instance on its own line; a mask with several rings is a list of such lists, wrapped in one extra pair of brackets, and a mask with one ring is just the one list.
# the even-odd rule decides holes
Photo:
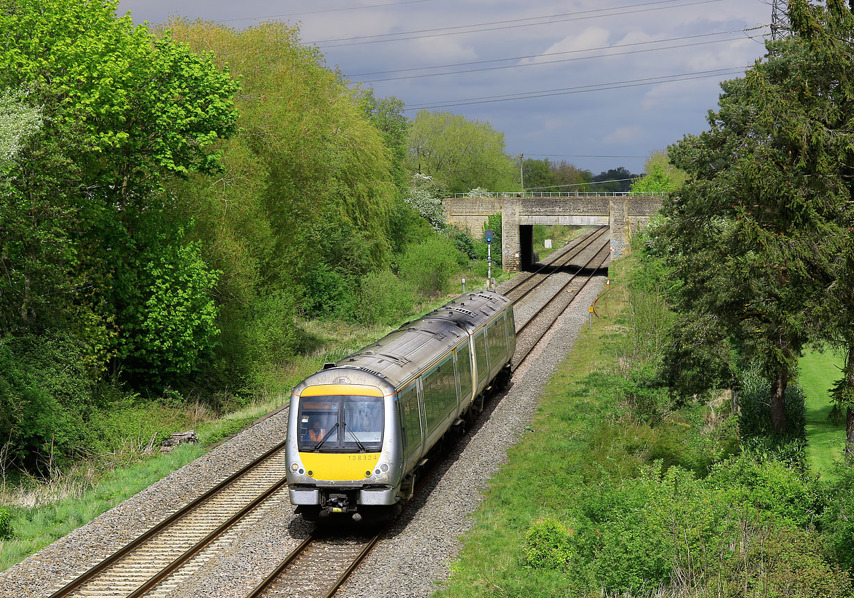
[(842, 360), (832, 351), (808, 351), (798, 364), (798, 383), (806, 403), (806, 453), (810, 470), (824, 478), (845, 449), (845, 422), (829, 419), (832, 407), (828, 389), (839, 378)]

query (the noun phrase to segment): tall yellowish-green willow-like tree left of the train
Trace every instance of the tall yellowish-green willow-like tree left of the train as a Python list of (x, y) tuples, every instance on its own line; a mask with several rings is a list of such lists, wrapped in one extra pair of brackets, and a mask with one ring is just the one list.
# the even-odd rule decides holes
[(293, 26), (164, 27), (213, 51), (243, 85), (240, 132), (221, 146), (225, 172), (174, 192), (222, 272), (219, 382), (253, 390), (293, 356), (295, 317), (354, 317), (360, 281), (403, 243), (395, 226), (417, 219), (399, 180), (407, 120), (399, 100), (348, 90)]

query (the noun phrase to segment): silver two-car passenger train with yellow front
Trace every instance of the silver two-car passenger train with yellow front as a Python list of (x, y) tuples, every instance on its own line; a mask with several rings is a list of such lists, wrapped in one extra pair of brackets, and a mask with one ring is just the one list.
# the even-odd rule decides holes
[(509, 382), (515, 349), (512, 302), (477, 290), (297, 384), (285, 448), (296, 513), (394, 517), (484, 398)]

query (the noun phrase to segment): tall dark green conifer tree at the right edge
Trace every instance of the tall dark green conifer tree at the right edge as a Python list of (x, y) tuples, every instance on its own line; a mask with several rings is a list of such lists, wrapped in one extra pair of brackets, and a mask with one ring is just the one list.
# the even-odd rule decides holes
[(716, 315), (763, 362), (778, 432), (800, 350), (821, 334), (816, 308), (827, 318), (820, 306), (845, 302), (854, 221), (851, 49), (839, 42), (851, 15), (834, 0), (791, 10), (796, 35), (722, 84), (709, 131), (670, 147), (690, 179), (664, 204), (682, 307)]

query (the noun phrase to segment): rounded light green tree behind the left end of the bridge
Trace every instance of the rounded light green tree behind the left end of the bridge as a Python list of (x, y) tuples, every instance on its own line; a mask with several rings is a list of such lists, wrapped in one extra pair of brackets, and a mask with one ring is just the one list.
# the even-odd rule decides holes
[(421, 110), (412, 120), (407, 167), (447, 185), (451, 193), (518, 185), (518, 163), (504, 151), (504, 134), (447, 112)]

